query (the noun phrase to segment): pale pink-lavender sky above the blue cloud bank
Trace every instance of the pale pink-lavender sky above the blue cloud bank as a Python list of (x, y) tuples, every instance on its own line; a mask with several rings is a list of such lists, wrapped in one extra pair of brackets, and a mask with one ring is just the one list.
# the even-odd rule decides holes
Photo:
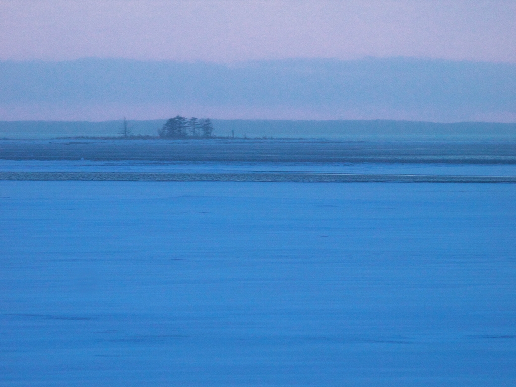
[(0, 0), (0, 60), (516, 63), (516, 1)]

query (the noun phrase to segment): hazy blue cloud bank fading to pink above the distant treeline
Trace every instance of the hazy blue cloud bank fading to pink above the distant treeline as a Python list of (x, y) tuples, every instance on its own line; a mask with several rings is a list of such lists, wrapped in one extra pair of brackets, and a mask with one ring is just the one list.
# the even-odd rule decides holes
[(0, 62), (0, 119), (516, 122), (516, 65), (421, 58)]

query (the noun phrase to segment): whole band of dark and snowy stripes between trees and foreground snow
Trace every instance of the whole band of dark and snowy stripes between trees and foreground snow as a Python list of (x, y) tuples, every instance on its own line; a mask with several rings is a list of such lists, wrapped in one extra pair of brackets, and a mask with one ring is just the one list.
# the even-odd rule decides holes
[[(509, 142), (0, 140), (0, 160), (0, 180), (14, 181), (516, 183)], [(32, 160), (37, 165), (9, 164)], [(82, 160), (86, 170), (74, 164)], [(45, 163), (72, 164), (49, 170)]]

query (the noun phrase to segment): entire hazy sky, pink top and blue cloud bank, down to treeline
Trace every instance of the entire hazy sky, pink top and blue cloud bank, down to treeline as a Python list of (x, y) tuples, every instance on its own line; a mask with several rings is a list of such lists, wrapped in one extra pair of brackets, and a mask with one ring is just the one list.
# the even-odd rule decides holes
[(515, 37), (516, 0), (0, 0), (0, 120), (516, 122)]

